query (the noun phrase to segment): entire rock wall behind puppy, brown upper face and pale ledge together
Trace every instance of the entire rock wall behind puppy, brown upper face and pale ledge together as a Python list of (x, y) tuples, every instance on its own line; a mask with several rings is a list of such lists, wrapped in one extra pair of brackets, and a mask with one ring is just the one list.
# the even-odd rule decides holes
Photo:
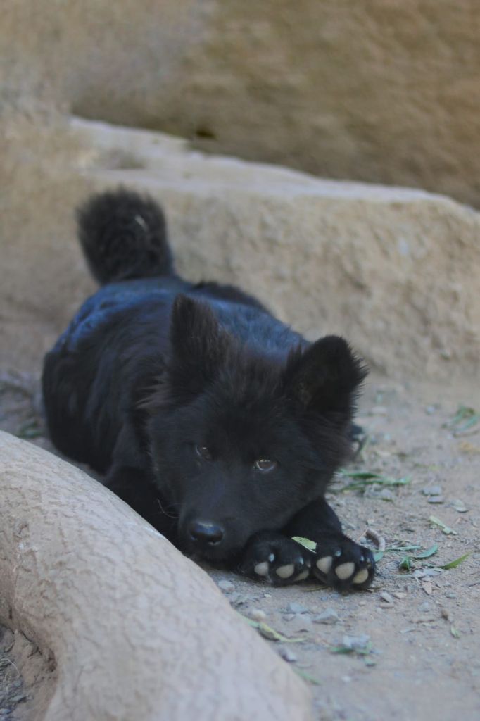
[(479, 30), (479, 0), (4, 0), (0, 366), (40, 371), (95, 287), (74, 208), (127, 185), (190, 278), (479, 380)]

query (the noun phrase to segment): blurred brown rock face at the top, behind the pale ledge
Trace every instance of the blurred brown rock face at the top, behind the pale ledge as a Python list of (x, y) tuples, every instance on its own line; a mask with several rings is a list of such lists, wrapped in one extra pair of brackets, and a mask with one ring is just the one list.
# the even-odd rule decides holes
[(2, 96), (480, 205), (479, 22), (477, 0), (10, 0)]

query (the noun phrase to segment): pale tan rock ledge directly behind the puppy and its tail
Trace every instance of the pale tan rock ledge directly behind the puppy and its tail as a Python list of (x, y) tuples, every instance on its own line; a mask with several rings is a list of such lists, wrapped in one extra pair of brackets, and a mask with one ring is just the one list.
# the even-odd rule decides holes
[(13, 118), (3, 157), (7, 366), (40, 368), (94, 289), (74, 206), (122, 184), (164, 206), (192, 280), (240, 283), (312, 339), (345, 335), (390, 376), (479, 377), (480, 215), (448, 198), (205, 157), (169, 136), (79, 120)]

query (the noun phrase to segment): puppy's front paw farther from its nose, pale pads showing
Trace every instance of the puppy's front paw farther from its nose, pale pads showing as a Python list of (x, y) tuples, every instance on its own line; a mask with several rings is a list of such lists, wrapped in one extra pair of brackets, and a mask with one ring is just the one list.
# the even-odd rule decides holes
[(375, 575), (372, 552), (347, 536), (320, 541), (312, 572), (338, 590), (368, 588)]

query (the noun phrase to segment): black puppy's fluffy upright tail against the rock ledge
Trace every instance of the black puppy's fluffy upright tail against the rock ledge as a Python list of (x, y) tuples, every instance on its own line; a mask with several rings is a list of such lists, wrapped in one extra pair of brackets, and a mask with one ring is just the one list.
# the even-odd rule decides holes
[(130, 190), (92, 195), (77, 211), (79, 239), (101, 285), (174, 273), (159, 205)]

